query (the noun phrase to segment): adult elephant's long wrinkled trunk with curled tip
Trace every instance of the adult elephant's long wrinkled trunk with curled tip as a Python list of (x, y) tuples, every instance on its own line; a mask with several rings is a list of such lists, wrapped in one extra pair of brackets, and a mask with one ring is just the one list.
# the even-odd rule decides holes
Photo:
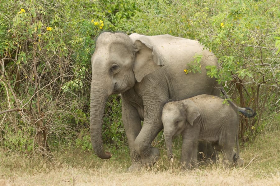
[(93, 81), (91, 82), (91, 110), (90, 110), (90, 130), (91, 144), (96, 155), (102, 159), (112, 157), (110, 152), (105, 152), (102, 141), (102, 123), (108, 90), (104, 85)]

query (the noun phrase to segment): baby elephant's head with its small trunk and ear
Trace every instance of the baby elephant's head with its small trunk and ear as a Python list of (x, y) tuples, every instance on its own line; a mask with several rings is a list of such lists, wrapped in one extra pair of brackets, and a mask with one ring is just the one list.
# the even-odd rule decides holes
[(193, 126), (194, 120), (200, 115), (193, 101), (186, 99), (166, 103), (162, 109), (161, 121), (163, 123), (164, 138), (167, 154), (172, 154), (172, 139), (185, 130), (186, 125)]

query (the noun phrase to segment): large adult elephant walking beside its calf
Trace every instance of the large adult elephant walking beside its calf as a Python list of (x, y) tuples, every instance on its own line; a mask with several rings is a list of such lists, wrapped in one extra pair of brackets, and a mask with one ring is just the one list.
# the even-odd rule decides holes
[[(195, 55), (203, 56), (199, 63), (201, 73), (185, 74), (186, 65), (194, 61)], [(112, 156), (104, 151), (101, 128), (108, 96), (120, 93), (132, 159), (129, 170), (152, 165), (159, 158), (159, 150), (151, 147), (151, 143), (163, 129), (161, 113), (168, 100), (220, 93), (216, 79), (209, 78), (205, 69), (217, 65), (217, 58), (198, 41), (190, 39), (104, 32), (96, 40), (91, 65), (93, 149), (102, 159)]]

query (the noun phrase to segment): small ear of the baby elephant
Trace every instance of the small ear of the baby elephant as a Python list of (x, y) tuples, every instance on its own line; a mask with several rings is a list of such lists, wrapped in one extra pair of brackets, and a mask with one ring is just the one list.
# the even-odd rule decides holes
[(193, 126), (194, 120), (200, 115), (198, 107), (189, 99), (183, 100), (182, 104), (186, 109), (186, 120)]

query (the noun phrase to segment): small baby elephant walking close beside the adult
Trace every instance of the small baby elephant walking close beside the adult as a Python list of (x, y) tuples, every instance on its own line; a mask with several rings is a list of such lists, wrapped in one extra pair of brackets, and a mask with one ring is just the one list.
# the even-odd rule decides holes
[[(223, 99), (212, 95), (198, 95), (181, 101), (172, 101), (164, 105), (161, 120), (164, 126), (164, 136), (168, 156), (172, 154), (172, 139), (182, 134), (181, 165), (190, 168), (197, 165), (198, 140), (210, 142), (212, 147), (222, 152), (225, 162), (229, 165), (237, 161), (239, 153), (237, 111), (246, 115), (246, 110), (255, 113), (250, 108), (237, 107), (233, 102), (223, 104)], [(237, 153), (234, 154), (235, 139)]]

